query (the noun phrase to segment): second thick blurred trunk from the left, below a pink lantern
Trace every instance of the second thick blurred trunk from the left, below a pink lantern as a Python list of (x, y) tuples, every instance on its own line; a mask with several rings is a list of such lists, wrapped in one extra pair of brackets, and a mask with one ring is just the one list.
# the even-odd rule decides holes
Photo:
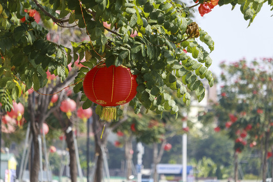
[(75, 145), (73, 140), (73, 132), (70, 131), (66, 134), (66, 144), (69, 149), (69, 167), (70, 167), (70, 175), (71, 175), (71, 182), (77, 181), (77, 175), (78, 175), (78, 169), (77, 169), (77, 159), (76, 159), (76, 151), (75, 151)]

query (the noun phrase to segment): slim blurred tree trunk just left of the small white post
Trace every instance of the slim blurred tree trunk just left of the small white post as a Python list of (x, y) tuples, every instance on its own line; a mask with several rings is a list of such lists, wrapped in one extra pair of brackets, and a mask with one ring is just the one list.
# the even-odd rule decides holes
[(126, 159), (126, 178), (129, 180), (129, 176), (132, 175), (132, 153), (130, 152), (132, 150), (132, 137), (129, 136), (126, 138), (125, 136), (125, 159)]

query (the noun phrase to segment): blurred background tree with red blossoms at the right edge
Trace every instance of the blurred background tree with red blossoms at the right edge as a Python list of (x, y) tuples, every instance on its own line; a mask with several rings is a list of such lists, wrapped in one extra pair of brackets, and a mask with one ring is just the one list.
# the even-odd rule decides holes
[[(247, 63), (240, 60), (231, 65), (220, 64), (221, 94), (210, 114), (201, 113), (204, 122), (217, 118), (215, 131), (226, 130), (234, 140), (235, 180), (238, 178), (238, 154), (247, 143), (261, 150), (262, 178), (266, 179), (267, 158), (272, 145), (272, 69), (273, 59), (264, 58)], [(249, 65), (249, 66), (248, 66)]]

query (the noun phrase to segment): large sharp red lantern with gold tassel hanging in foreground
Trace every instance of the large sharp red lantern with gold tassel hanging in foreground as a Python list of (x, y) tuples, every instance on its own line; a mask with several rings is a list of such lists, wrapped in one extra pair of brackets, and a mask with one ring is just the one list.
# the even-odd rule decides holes
[(136, 75), (125, 66), (95, 66), (83, 80), (86, 97), (103, 106), (102, 120), (116, 119), (115, 106), (125, 104), (136, 95)]

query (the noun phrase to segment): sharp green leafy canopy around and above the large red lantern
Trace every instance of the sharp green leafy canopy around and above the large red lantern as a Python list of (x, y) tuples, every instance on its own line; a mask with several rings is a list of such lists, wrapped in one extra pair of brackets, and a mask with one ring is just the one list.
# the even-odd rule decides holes
[[(27, 13), (31, 9), (40, 14), (43, 24), (37, 24)], [(75, 93), (83, 93), (82, 78), (98, 63), (125, 65), (138, 75), (138, 94), (130, 102), (135, 113), (142, 105), (158, 114), (164, 110), (177, 113), (178, 106), (165, 92), (166, 87), (175, 90), (176, 97), (189, 105), (190, 91), (195, 91), (199, 101), (204, 98), (202, 79), (213, 85), (208, 70), (212, 60), (206, 49), (213, 51), (214, 42), (198, 26), (188, 26), (193, 23), (189, 16), (185, 4), (169, 0), (4, 0), (0, 11), (3, 56), (0, 86), (16, 99), (21, 93), (15, 81), (18, 78), (26, 84), (26, 89), (38, 90), (48, 82), (48, 70), (64, 80), (69, 72), (68, 64), (73, 66), (74, 61), (85, 58), (82, 61), (85, 67), (75, 78)], [(25, 22), (20, 21), (23, 17)], [(71, 41), (72, 48), (49, 41), (48, 30), (43, 26), (49, 21), (63, 27), (83, 28), (90, 41)], [(104, 27), (103, 22), (111, 23), (111, 27)], [(130, 36), (135, 30), (138, 35)], [(206, 49), (199, 40), (207, 45)], [(92, 104), (84, 93), (81, 99), (85, 108)]]

